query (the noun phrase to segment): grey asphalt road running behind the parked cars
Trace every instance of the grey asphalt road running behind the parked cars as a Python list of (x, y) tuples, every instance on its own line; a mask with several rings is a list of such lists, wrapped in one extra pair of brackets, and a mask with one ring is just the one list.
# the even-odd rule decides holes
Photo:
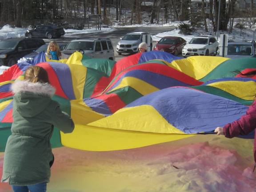
[[(119, 56), (116, 52), (116, 44), (120, 40), (122, 36), (124, 36), (126, 33), (129, 32), (149, 32), (151, 35), (156, 35), (160, 32), (166, 32), (166, 31), (172, 31), (174, 27), (134, 27), (134, 28), (116, 28), (115, 31), (112, 32), (106, 32), (106, 31), (99, 31), (98, 33), (88, 33), (88, 34), (76, 34), (74, 37), (61, 37), (59, 39), (54, 39), (57, 43), (68, 43), (71, 40), (74, 40), (76, 38), (81, 37), (91, 37), (91, 38), (100, 38), (100, 37), (107, 37), (110, 38), (115, 50), (115, 58), (116, 60), (120, 60), (120, 58), (126, 56), (122, 55)], [(49, 42), (50, 40), (44, 39), (45, 42)], [(155, 46), (156, 42), (153, 42), (153, 47)]]

